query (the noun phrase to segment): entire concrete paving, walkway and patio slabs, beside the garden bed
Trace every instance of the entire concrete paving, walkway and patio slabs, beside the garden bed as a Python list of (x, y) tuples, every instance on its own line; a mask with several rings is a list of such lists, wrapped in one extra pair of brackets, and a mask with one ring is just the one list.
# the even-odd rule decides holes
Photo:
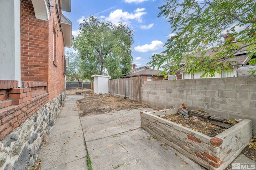
[(76, 100), (80, 98), (66, 96), (48, 144), (39, 152), (41, 170), (86, 170), (84, 141), (94, 170), (201, 169), (142, 129), (140, 109), (79, 117)]

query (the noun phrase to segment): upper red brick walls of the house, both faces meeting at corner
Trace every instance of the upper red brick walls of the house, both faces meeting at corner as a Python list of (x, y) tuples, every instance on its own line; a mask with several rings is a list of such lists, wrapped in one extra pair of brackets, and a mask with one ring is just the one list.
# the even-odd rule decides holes
[[(49, 21), (35, 18), (31, 0), (22, 1), (20, 7), (21, 80), (47, 82), (49, 100), (65, 89), (64, 39), (55, 1), (51, 5)], [(61, 8), (57, 9), (61, 21)]]

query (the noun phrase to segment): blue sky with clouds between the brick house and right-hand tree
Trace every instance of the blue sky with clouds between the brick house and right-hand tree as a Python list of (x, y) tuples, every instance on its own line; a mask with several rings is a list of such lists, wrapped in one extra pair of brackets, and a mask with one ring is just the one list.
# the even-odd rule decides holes
[(91, 15), (102, 21), (126, 23), (134, 31), (133, 62), (145, 66), (154, 53), (164, 51), (171, 34), (168, 20), (157, 18), (163, 0), (72, 0), (71, 12), (63, 14), (72, 22), (72, 34), (78, 33), (79, 23)]

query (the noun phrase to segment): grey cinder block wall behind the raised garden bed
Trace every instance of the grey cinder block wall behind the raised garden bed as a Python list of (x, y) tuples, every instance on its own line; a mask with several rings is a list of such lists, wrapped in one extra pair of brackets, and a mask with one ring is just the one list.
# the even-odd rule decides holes
[(256, 76), (144, 82), (142, 103), (154, 109), (184, 103), (224, 119), (251, 119), (256, 136)]

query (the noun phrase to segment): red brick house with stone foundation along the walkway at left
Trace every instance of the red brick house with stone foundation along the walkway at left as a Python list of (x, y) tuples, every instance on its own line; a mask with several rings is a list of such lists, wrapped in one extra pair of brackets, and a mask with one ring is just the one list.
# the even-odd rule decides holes
[(62, 106), (71, 0), (0, 0), (0, 169), (30, 169)]

